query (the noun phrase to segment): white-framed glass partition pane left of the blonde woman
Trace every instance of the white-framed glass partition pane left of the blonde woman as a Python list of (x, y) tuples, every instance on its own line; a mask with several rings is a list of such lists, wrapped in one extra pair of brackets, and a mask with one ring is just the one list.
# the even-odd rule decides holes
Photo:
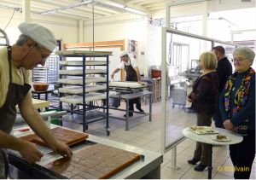
[(229, 57), (236, 48), (235, 44), (224, 43), (216, 39), (170, 28), (162, 29), (162, 152), (172, 149), (182, 140), (182, 131), (185, 127), (196, 125), (196, 115), (189, 108), (191, 103), (187, 102), (187, 96), (192, 90), (195, 78), (201, 75), (198, 69), (201, 53), (211, 51), (216, 45), (224, 46)]

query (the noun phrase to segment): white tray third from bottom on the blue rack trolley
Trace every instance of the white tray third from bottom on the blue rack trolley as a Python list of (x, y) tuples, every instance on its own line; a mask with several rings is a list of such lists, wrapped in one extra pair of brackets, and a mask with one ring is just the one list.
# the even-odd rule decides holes
[[(83, 84), (83, 78), (61, 78), (58, 80), (61, 84)], [(107, 82), (107, 78), (102, 77), (85, 77), (84, 83), (104, 83)]]

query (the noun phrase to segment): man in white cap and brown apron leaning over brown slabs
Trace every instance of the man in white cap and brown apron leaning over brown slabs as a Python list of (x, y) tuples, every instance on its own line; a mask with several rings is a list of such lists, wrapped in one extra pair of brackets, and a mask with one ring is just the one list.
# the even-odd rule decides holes
[(43, 154), (31, 142), (9, 135), (16, 118), (18, 105), (22, 117), (52, 150), (63, 156), (72, 156), (68, 146), (55, 139), (44, 119), (32, 107), (30, 69), (44, 66), (46, 58), (55, 48), (55, 37), (44, 26), (21, 23), (21, 35), (13, 46), (0, 49), (0, 178), (7, 177), (8, 163), (4, 148), (20, 152), (28, 163), (35, 163)]

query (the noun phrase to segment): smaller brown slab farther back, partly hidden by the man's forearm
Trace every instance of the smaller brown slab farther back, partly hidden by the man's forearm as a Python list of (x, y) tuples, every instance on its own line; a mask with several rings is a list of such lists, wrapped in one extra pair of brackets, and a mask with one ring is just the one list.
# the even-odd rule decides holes
[[(66, 143), (68, 146), (75, 144), (77, 142), (82, 142), (86, 138), (88, 138), (88, 134), (83, 132), (77, 132), (72, 130), (67, 130), (61, 127), (55, 127), (50, 130), (53, 136), (61, 142)], [(20, 136), (20, 139), (25, 140), (27, 142), (34, 142), (42, 146), (46, 146), (44, 140), (42, 140), (38, 135), (31, 134), (27, 136)]]

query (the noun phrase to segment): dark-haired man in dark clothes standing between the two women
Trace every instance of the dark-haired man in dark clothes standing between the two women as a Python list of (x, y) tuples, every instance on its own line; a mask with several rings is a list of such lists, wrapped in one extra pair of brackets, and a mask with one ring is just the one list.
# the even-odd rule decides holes
[[(222, 46), (216, 46), (212, 49), (212, 52), (217, 56), (218, 59), (218, 67), (216, 72), (218, 73), (218, 103), (219, 98), (221, 96), (222, 91), (224, 90), (224, 86), (227, 82), (227, 79), (232, 74), (232, 65), (228, 58), (225, 56), (225, 49)], [(215, 126), (219, 128), (224, 128), (223, 121), (221, 119), (221, 114), (219, 111), (219, 107), (216, 107), (216, 113), (213, 115), (212, 119), (215, 122)]]

